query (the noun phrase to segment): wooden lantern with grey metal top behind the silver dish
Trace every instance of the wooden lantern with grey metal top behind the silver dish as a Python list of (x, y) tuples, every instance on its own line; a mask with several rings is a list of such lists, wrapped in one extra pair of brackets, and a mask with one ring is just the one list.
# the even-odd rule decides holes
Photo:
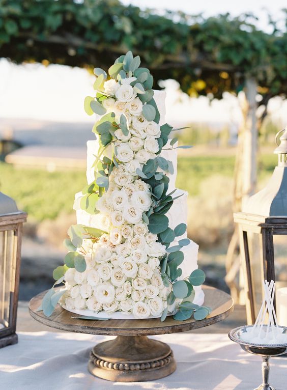
[(239, 224), (249, 324), (254, 323), (262, 302), (263, 279), (275, 281), (274, 236), (287, 235), (287, 127), (277, 133), (275, 140), (278, 165), (270, 181), (249, 198), (242, 212), (234, 214)]

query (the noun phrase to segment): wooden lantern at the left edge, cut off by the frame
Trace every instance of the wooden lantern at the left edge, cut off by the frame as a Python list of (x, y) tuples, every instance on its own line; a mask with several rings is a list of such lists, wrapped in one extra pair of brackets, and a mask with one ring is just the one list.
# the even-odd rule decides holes
[(0, 348), (16, 344), (21, 237), (27, 214), (0, 192)]

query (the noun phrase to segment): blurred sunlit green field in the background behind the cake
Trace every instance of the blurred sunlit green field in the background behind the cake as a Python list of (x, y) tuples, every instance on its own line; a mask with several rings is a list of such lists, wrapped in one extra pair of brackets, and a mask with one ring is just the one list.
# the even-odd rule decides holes
[[(200, 183), (214, 174), (232, 178), (234, 161), (233, 156), (180, 157), (177, 186), (194, 196)], [(270, 175), (275, 164), (274, 155), (263, 155), (259, 160), (259, 180)], [(31, 221), (54, 219), (61, 212), (72, 213), (74, 194), (84, 185), (84, 171), (48, 173), (0, 162), (0, 190), (14, 198)]]

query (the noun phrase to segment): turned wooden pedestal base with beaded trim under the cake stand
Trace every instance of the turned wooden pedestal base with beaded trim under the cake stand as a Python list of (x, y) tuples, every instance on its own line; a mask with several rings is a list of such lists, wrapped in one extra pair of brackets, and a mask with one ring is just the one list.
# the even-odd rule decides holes
[(91, 374), (111, 381), (160, 379), (176, 370), (170, 347), (147, 336), (118, 336), (97, 344), (90, 353)]

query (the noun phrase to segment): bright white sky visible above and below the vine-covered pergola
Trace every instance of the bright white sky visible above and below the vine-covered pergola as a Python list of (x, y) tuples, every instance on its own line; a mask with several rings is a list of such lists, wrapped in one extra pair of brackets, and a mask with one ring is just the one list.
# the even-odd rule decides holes
[[(282, 17), (280, 9), (286, 6), (286, 0), (273, 0), (272, 15), (276, 20)], [(206, 16), (230, 12), (238, 15), (242, 12), (253, 12), (261, 15), (260, 26), (267, 29), (266, 15), (263, 8), (271, 8), (270, 0), (231, 2), (230, 0), (123, 0), (124, 4), (134, 4), (141, 8), (156, 7), (182, 10), (186, 13), (203, 12)], [(95, 64), (96, 66), (96, 64)], [(94, 77), (80, 68), (60, 65), (28, 64), (16, 66), (7, 60), (0, 60), (0, 119), (1, 118), (34, 118), (61, 122), (93, 122), (83, 110), (83, 99), (93, 96)], [(240, 120), (237, 103), (228, 96), (223, 101), (209, 104), (207, 98), (189, 99), (181, 95), (178, 85), (169, 82), (167, 87), (167, 121), (177, 124), (179, 118), (188, 122), (230, 122)], [(176, 98), (175, 98), (176, 97)], [(181, 102), (179, 102), (181, 101)], [(172, 108), (172, 109), (171, 109)], [(170, 114), (171, 113), (171, 114)], [(0, 122), (1, 131), (1, 122)]]

